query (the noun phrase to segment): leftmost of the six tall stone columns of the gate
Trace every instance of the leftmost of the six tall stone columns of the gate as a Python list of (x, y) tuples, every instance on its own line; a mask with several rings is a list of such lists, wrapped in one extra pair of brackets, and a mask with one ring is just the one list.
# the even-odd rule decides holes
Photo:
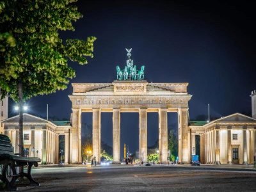
[(71, 163), (81, 162), (81, 110), (72, 109), (72, 148), (70, 148), (71, 153)]

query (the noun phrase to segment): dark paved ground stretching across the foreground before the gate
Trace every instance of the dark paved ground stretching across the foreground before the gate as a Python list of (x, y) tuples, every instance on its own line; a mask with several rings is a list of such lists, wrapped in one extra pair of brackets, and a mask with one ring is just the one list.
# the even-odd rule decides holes
[(45, 166), (33, 175), (40, 187), (20, 191), (256, 191), (246, 166)]

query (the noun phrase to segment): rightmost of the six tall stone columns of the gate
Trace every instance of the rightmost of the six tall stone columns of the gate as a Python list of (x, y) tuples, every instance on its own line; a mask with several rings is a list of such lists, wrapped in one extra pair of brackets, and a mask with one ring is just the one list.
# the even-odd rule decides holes
[(188, 143), (188, 109), (180, 110), (180, 125), (181, 125), (181, 141), (182, 141), (182, 163), (189, 163), (189, 143)]

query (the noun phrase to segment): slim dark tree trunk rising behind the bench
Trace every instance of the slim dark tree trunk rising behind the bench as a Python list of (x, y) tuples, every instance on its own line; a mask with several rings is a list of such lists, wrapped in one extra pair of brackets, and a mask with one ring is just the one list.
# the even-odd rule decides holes
[(22, 94), (22, 83), (18, 85), (19, 89), (19, 153), (20, 156), (24, 157), (24, 145), (23, 145), (23, 94)]

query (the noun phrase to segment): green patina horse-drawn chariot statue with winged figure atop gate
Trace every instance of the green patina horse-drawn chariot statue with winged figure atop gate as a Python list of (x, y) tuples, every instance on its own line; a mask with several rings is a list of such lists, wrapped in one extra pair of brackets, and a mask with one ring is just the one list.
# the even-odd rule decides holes
[[(126, 48), (125, 48), (126, 49)], [(126, 66), (124, 70), (121, 70), (119, 66), (116, 66), (116, 78), (120, 81), (142, 81), (144, 79), (144, 68), (141, 66), (140, 70), (136, 70), (136, 65), (133, 65), (133, 60), (131, 57), (131, 49), (126, 49), (128, 60), (126, 60)]]

